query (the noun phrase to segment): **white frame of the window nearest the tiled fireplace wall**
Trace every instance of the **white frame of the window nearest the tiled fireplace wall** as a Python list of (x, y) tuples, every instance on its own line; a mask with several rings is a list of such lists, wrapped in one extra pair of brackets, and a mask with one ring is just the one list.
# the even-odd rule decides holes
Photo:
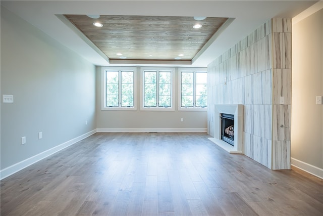
[[(182, 107), (182, 72), (193, 72), (193, 107)], [(196, 107), (196, 72), (206, 72), (207, 68), (178, 68), (178, 110), (179, 111), (207, 111), (207, 107)]]

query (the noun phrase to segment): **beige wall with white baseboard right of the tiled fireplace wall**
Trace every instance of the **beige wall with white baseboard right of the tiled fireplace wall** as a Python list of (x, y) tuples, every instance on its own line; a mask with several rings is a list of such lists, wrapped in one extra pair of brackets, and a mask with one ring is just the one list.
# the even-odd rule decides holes
[[(323, 178), (323, 2), (293, 19), (292, 165)], [(304, 15), (305, 14), (305, 15)]]

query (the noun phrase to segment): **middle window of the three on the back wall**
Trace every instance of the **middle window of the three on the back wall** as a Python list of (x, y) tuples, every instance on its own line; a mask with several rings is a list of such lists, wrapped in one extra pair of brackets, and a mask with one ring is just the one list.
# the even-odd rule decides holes
[(141, 110), (174, 109), (175, 68), (141, 68)]

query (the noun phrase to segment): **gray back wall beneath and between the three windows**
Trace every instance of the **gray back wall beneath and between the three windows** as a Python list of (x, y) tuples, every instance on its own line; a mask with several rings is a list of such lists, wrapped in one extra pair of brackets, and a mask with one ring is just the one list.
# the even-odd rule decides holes
[[(175, 74), (175, 111), (140, 111), (140, 67), (137, 68), (137, 111), (101, 110), (101, 67), (96, 68), (96, 126), (105, 131), (204, 131), (206, 111), (178, 111), (178, 70)], [(181, 118), (184, 119), (181, 122)], [(155, 130), (153, 129), (155, 128)], [(120, 130), (121, 129), (121, 130)]]

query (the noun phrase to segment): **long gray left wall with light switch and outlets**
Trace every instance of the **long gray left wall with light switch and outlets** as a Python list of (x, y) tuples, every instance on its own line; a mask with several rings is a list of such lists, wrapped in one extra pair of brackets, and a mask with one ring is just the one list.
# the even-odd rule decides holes
[(2, 7), (3, 94), (1, 169), (96, 128), (95, 66)]

